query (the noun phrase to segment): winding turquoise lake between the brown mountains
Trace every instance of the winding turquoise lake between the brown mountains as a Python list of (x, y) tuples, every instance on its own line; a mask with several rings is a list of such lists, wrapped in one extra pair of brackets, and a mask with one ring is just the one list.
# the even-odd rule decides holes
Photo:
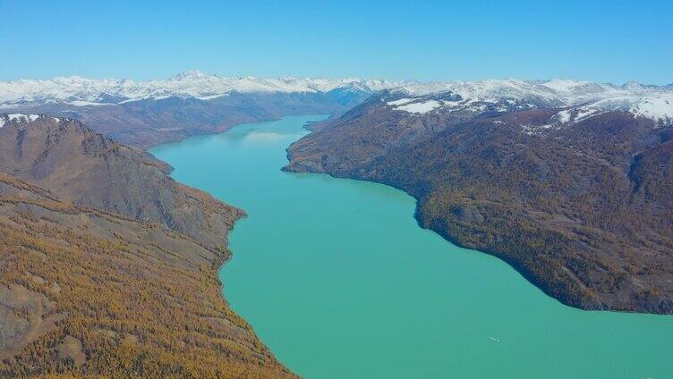
[(291, 116), (156, 147), (177, 181), (249, 217), (225, 295), (306, 378), (673, 378), (673, 316), (566, 307), (497, 258), (413, 219), (404, 192), (284, 173), (325, 116)]

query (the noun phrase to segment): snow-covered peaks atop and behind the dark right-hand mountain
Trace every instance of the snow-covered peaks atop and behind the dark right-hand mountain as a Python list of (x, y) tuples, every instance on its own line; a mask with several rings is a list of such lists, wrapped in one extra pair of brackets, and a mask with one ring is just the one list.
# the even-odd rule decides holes
[[(608, 111), (628, 111), (660, 123), (673, 122), (673, 87), (627, 82), (618, 87), (583, 80), (479, 80), (410, 83), (382, 101), (410, 114), (468, 111), (510, 112), (525, 108), (575, 107), (569, 122)], [(460, 101), (447, 101), (453, 94)], [(576, 117), (575, 117), (576, 115)]]

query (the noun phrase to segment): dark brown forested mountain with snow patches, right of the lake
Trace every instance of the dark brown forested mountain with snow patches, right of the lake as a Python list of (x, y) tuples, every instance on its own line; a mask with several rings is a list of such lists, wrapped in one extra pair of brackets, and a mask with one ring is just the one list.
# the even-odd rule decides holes
[(396, 101), (319, 126), (288, 149), (285, 170), (405, 189), (422, 226), (503, 258), (569, 305), (673, 312), (666, 120), (585, 105), (414, 113)]

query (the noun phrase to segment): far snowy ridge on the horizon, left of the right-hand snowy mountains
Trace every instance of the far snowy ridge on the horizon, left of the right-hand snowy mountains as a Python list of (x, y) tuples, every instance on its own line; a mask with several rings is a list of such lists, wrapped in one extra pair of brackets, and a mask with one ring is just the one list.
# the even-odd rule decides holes
[(209, 100), (240, 93), (329, 92), (336, 89), (374, 92), (403, 82), (359, 79), (308, 79), (251, 76), (226, 78), (200, 71), (181, 72), (167, 80), (89, 80), (78, 76), (52, 80), (0, 81), (0, 108), (63, 103), (75, 106), (123, 104), (144, 99), (195, 97)]

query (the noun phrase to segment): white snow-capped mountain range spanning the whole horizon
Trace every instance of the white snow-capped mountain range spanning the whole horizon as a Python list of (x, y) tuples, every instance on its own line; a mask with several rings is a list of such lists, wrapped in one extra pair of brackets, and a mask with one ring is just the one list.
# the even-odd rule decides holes
[[(583, 105), (595, 111), (629, 110), (654, 120), (673, 120), (673, 84), (623, 86), (582, 80), (435, 81), (307, 79), (284, 77), (226, 78), (199, 71), (179, 73), (167, 80), (89, 80), (59, 77), (52, 80), (0, 81), (0, 109), (27, 105), (64, 104), (76, 107), (119, 105), (167, 97), (210, 100), (238, 93), (373, 93), (388, 89), (397, 95), (389, 105), (412, 114), (490, 105), (564, 107)], [(450, 94), (447, 100), (446, 94)], [(437, 96), (442, 98), (437, 98)], [(457, 97), (456, 97), (457, 95)], [(405, 101), (406, 99), (406, 101)], [(511, 107), (510, 107), (511, 108)], [(498, 108), (496, 108), (498, 109)], [(505, 108), (502, 108), (504, 111)]]

